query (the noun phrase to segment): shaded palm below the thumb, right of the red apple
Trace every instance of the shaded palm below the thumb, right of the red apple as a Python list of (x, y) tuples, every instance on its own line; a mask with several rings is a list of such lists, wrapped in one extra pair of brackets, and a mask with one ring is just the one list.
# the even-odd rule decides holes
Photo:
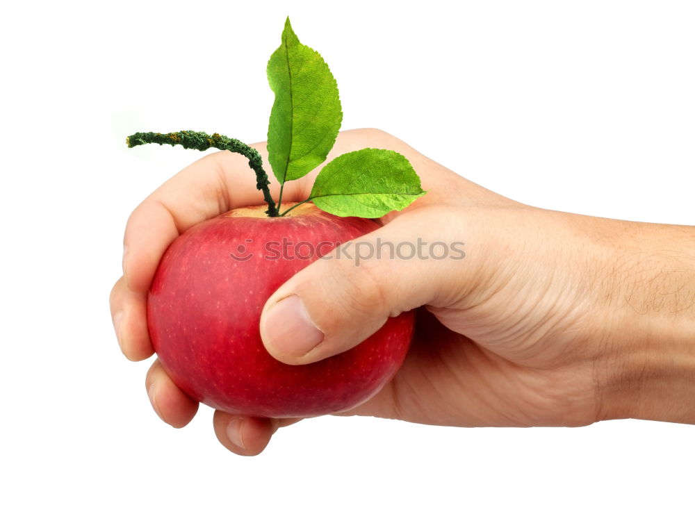
[(379, 395), (347, 414), (469, 427), (589, 424), (594, 419), (586, 417), (575, 395), (583, 381), (564, 367), (512, 363), (420, 309), (398, 374)]

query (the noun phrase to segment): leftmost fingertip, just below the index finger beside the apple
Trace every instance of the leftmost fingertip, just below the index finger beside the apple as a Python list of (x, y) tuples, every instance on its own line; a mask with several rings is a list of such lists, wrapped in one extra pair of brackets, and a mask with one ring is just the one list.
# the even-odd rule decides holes
[(133, 292), (121, 277), (109, 297), (111, 319), (122, 353), (131, 361), (149, 358), (154, 353), (147, 331), (147, 295)]

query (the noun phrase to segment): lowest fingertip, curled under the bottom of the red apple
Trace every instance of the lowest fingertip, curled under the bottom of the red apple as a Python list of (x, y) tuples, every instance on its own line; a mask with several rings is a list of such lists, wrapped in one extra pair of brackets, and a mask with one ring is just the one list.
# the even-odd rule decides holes
[(261, 454), (277, 429), (289, 426), (300, 419), (266, 419), (242, 417), (215, 411), (213, 427), (220, 443), (240, 456)]

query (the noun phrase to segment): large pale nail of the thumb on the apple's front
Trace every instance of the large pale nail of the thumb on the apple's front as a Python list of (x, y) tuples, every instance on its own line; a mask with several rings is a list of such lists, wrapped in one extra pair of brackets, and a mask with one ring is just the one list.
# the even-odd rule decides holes
[(281, 356), (304, 356), (325, 338), (311, 322), (304, 302), (297, 295), (281, 299), (272, 306), (265, 316), (263, 329), (265, 344)]

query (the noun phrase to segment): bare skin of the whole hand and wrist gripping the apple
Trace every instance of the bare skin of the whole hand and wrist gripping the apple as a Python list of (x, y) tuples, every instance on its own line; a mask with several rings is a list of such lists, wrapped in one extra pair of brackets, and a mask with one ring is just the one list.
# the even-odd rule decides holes
[[(253, 145), (269, 167), (265, 143)], [(363, 147), (404, 154), (428, 193), (382, 218), (384, 226), (361, 240), (459, 241), (466, 258), (369, 258), (358, 268), (345, 258), (322, 260), (268, 300), (263, 342), (290, 364), (354, 347), (389, 315), (417, 307), (431, 314), (420, 317), (391, 383), (341, 415), (459, 427), (576, 427), (626, 417), (695, 423), (695, 227), (524, 205), (375, 129), (341, 133), (329, 160)], [(286, 183), (284, 201), (305, 199), (316, 174)], [(276, 200), (278, 192), (274, 183)], [(170, 242), (193, 224), (261, 203), (245, 158), (215, 152), (133, 211), (124, 236), (124, 275), (111, 292), (127, 358), (153, 354), (145, 301)], [(315, 347), (303, 348), (272, 327), (272, 308), (290, 295), (300, 297), (323, 335)], [(146, 386), (162, 420), (183, 427), (193, 419), (197, 403), (158, 361)], [(296, 421), (218, 411), (213, 424), (224, 447), (255, 455), (277, 429)]]

